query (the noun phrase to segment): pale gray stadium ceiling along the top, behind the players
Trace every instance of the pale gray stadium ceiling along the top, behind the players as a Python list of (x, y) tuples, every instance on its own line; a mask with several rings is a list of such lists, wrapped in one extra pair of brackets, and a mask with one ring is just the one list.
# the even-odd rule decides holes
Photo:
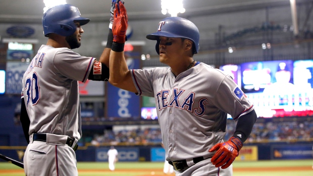
[[(161, 0), (124, 0), (129, 20), (149, 20), (168, 17), (161, 13)], [(296, 0), (303, 3), (312, 0)], [(108, 20), (111, 0), (67, 0), (93, 22)], [(289, 0), (184, 0), (186, 12), (178, 16), (213, 15), (236, 11), (290, 6)], [(44, 3), (42, 0), (1, 0), (0, 23), (41, 23)]]

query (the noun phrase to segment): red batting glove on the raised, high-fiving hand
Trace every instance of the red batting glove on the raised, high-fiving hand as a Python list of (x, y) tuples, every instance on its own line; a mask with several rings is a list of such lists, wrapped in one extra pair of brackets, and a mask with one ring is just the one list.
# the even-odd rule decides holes
[(119, 5), (115, 5), (114, 22), (112, 27), (113, 41), (118, 43), (125, 43), (126, 30), (128, 27), (128, 17), (125, 6), (120, 1)]

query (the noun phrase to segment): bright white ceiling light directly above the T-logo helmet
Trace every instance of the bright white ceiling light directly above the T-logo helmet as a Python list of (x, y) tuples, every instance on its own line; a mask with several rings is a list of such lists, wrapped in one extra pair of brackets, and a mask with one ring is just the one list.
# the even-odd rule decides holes
[(184, 13), (183, 0), (161, 0), (162, 14), (171, 14), (172, 17), (177, 17), (178, 13)]

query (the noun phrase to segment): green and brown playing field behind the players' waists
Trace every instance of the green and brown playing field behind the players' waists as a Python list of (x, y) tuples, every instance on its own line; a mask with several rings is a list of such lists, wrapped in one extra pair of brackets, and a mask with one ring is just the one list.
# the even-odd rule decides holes
[[(78, 162), (77, 168), (79, 169), (79, 176), (98, 176), (98, 175), (106, 175), (106, 176), (138, 176), (138, 175), (151, 175), (149, 172), (118, 172), (118, 170), (123, 169), (142, 169), (142, 168), (151, 168), (151, 170), (155, 171), (155, 174), (162, 174), (164, 162), (117, 162), (116, 163), (116, 171), (109, 170), (108, 162)], [(288, 170), (280, 170), (280, 171), (234, 171), (233, 176), (312, 176), (313, 160), (269, 160), (269, 161), (235, 161), (233, 163), (234, 169), (242, 169), (242, 168), (258, 168), (258, 167), (297, 167), (297, 166), (305, 166), (308, 169), (306, 170), (296, 170), (296, 171), (288, 171)], [(14, 173), (4, 173), (4, 169), (16, 170)], [(85, 169), (95, 169), (93, 172), (88, 172)], [(103, 169), (103, 170), (96, 170)], [(8, 162), (0, 162), (0, 176), (24, 176), (23, 169), (15, 166)], [(152, 176), (152, 175), (151, 175)]]

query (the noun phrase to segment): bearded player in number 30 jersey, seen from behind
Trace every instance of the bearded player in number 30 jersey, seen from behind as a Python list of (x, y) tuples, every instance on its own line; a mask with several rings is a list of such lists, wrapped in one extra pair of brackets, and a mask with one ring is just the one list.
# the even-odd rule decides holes
[(24, 155), (26, 175), (78, 175), (74, 152), (82, 137), (78, 81), (109, 79), (113, 43), (110, 30), (99, 58), (105, 64), (72, 51), (81, 45), (82, 26), (89, 21), (69, 4), (43, 14), (43, 33), (48, 40), (22, 81), (21, 123), (29, 142)]

